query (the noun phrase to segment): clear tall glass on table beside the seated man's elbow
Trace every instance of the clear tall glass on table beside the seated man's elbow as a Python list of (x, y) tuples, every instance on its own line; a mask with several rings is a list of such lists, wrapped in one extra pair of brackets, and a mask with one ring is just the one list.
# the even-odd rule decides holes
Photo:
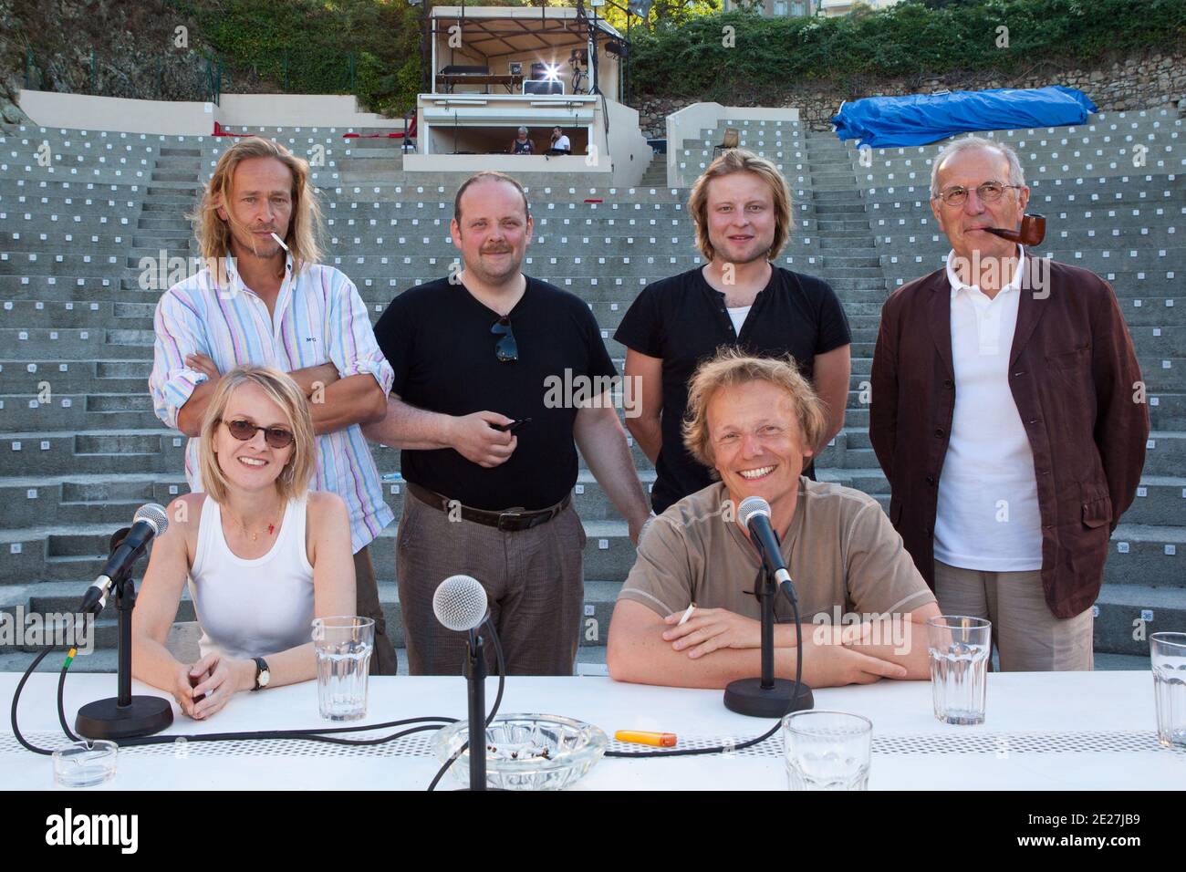
[(983, 724), (993, 624), (940, 615), (926, 622), (935, 717), (945, 724)]

